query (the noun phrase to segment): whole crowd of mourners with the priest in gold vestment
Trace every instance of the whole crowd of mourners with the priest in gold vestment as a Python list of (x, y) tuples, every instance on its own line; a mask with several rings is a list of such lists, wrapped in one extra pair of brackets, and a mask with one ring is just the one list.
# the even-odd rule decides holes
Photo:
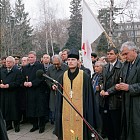
[[(91, 60), (93, 74), (75, 49), (44, 54), (41, 60), (34, 51), (22, 58), (2, 57), (0, 139), (8, 140), (6, 130), (19, 132), (21, 123), (31, 123), (30, 132), (43, 133), (50, 121), (59, 140), (139, 140), (137, 46), (128, 41), (120, 53), (110, 47), (100, 58), (91, 53)], [(40, 70), (43, 74), (37, 76)]]

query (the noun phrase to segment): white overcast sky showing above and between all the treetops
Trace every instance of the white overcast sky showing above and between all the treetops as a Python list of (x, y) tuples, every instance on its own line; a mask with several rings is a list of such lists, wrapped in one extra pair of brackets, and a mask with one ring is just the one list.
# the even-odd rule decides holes
[[(16, 0), (10, 0), (12, 4)], [(33, 24), (36, 24), (39, 22), (39, 17), (41, 16), (41, 10), (42, 10), (42, 0), (22, 0), (25, 4), (25, 11), (29, 12), (29, 16), (31, 18), (31, 22)], [(45, 0), (46, 2), (49, 1), (50, 7), (55, 9), (56, 11), (56, 17), (58, 18), (69, 18), (70, 16), (70, 1), (71, 0)], [(94, 12), (94, 14), (98, 13), (98, 10), (103, 7), (109, 7), (109, 1), (110, 0), (85, 0), (91, 10)], [(128, 0), (114, 0), (115, 5), (120, 6), (125, 5), (126, 1)], [(136, 6), (140, 7), (140, 0), (136, 0), (137, 4)], [(116, 4), (117, 2), (117, 4)], [(122, 4), (124, 3), (124, 4)], [(140, 8), (138, 8), (140, 10)], [(140, 11), (139, 11), (140, 12)]]

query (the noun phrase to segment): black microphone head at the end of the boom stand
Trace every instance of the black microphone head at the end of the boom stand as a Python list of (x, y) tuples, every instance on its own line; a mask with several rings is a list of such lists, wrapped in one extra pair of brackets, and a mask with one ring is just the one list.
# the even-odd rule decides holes
[(49, 79), (50, 81), (52, 81), (52, 82), (58, 84), (58, 82), (57, 82), (56, 80), (54, 80), (53, 78), (51, 78), (51, 77), (49, 77), (47, 74), (45, 74), (43, 70), (37, 70), (37, 71), (36, 71), (36, 76), (37, 76), (39, 79), (42, 78), (42, 77), (45, 77), (45, 78)]

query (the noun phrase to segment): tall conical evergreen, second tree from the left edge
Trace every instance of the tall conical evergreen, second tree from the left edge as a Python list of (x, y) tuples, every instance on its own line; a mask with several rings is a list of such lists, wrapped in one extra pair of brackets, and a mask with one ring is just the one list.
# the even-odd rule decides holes
[(32, 26), (22, 0), (15, 3), (14, 54), (25, 55), (32, 50)]

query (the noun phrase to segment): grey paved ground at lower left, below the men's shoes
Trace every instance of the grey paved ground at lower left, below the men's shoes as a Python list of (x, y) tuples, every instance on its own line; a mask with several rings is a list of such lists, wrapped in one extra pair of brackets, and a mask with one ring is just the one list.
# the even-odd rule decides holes
[(30, 124), (24, 124), (20, 127), (20, 132), (15, 133), (14, 129), (9, 130), (8, 137), (9, 140), (58, 140), (55, 135), (53, 135), (52, 131), (54, 129), (54, 125), (50, 123), (46, 124), (45, 132), (39, 134), (38, 130), (35, 132), (29, 132), (32, 128)]

